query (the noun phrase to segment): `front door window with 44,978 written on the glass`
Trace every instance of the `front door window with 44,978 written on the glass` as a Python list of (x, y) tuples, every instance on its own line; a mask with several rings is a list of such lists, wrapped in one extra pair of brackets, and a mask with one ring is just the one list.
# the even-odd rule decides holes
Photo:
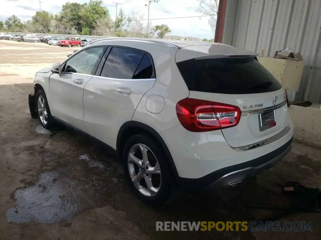
[(94, 47), (79, 52), (66, 62), (64, 72), (93, 75), (104, 48)]

